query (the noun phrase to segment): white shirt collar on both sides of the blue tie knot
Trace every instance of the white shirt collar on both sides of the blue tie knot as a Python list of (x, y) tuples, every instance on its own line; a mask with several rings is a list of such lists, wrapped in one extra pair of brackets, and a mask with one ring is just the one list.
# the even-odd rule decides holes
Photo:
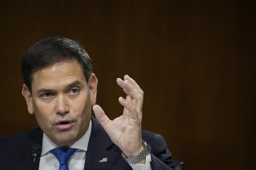
[[(77, 142), (75, 142), (73, 145), (69, 146), (70, 148), (80, 149), (82, 151), (87, 151), (88, 148), (88, 142), (91, 135), (91, 120), (88, 127), (88, 130), (85, 132), (85, 134), (80, 138)], [(51, 149), (59, 147), (54, 142), (51, 141), (50, 138), (48, 138), (47, 135), (43, 135), (43, 143), (42, 143), (42, 154), (48, 153)]]

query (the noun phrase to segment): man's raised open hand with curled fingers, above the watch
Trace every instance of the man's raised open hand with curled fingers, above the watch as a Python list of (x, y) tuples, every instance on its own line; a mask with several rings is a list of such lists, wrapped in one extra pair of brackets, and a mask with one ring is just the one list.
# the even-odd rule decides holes
[(124, 106), (123, 114), (110, 120), (99, 105), (94, 105), (93, 110), (96, 119), (102, 124), (111, 140), (126, 157), (132, 158), (143, 150), (141, 143), (143, 91), (128, 75), (124, 76), (124, 80), (117, 78), (117, 84), (127, 95), (126, 99), (119, 97), (120, 104)]

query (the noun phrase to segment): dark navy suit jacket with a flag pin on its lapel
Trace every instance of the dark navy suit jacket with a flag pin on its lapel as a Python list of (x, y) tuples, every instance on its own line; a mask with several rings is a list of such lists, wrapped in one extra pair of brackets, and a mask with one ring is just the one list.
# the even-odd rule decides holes
[[(121, 149), (106, 134), (98, 120), (92, 120), (91, 136), (86, 152), (84, 170), (132, 170), (121, 156)], [(142, 131), (142, 138), (151, 147), (152, 170), (172, 170), (171, 153), (164, 138), (148, 131)], [(31, 149), (34, 144), (42, 145), (43, 131), (40, 128), (18, 135), (0, 138), (0, 170), (29, 170), (33, 164)], [(107, 162), (100, 163), (100, 158)], [(33, 170), (38, 170), (38, 159)]]

